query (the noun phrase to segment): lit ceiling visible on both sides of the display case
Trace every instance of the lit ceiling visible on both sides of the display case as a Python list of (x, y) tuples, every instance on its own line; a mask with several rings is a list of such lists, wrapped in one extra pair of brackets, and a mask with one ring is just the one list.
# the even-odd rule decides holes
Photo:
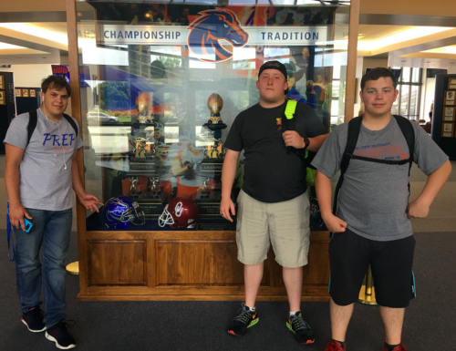
[[(361, 0), (358, 56), (388, 57), (391, 67), (456, 65), (456, 6), (440, 10), (440, 5), (451, 5), (453, 1), (435, 0), (430, 6), (423, 0), (384, 0), (381, 7), (375, 5), (378, 2)], [(1, 65), (58, 64), (62, 56), (67, 56), (65, 1), (39, 3), (39, 8), (30, 0), (0, 5)], [(403, 3), (413, 6), (406, 9)], [(429, 15), (423, 14), (422, 7)], [(3, 48), (2, 43), (9, 47)]]

